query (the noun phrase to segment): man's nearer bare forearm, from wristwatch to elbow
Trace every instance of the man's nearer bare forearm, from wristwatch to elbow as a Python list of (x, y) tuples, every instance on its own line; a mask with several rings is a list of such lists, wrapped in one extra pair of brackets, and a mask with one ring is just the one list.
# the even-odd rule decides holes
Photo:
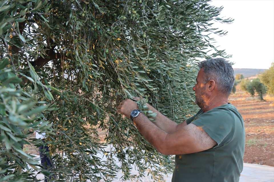
[[(157, 122), (157, 121), (156, 121)], [(165, 138), (168, 135), (165, 131), (152, 124), (152, 122), (142, 113), (134, 118), (134, 125), (140, 131), (142, 136), (154, 146), (158, 152), (165, 154)]]

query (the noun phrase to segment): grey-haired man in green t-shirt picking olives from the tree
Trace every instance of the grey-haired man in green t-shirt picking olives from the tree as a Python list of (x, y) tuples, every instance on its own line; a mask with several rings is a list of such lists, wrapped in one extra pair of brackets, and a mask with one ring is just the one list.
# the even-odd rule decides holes
[[(156, 122), (124, 100), (118, 112), (132, 118), (134, 125), (160, 153), (176, 155), (172, 181), (234, 182), (243, 169), (245, 129), (243, 118), (228, 103), (234, 84), (234, 71), (225, 59), (202, 61), (196, 78), (195, 103), (201, 108), (180, 124), (171, 121), (152, 106)], [(138, 99), (138, 98), (136, 98)]]

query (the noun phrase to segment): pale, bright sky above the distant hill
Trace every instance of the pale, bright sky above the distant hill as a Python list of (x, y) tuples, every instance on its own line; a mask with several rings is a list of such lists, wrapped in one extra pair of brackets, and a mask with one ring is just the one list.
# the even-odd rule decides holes
[(225, 36), (214, 36), (227, 54), (233, 68), (269, 69), (274, 62), (274, 0), (212, 0), (209, 4), (223, 10), (220, 17), (234, 18), (232, 24), (216, 23), (227, 30)]

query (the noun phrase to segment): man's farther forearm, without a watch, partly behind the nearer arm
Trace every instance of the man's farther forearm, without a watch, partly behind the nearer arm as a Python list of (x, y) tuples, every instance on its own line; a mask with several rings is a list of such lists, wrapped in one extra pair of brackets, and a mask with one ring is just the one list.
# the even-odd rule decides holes
[(177, 123), (168, 119), (166, 116), (157, 111), (157, 109), (155, 109), (151, 105), (147, 104), (147, 106), (149, 110), (157, 113), (155, 122), (152, 122), (153, 124), (158, 126), (160, 129), (164, 130), (166, 133), (173, 133), (176, 131)]

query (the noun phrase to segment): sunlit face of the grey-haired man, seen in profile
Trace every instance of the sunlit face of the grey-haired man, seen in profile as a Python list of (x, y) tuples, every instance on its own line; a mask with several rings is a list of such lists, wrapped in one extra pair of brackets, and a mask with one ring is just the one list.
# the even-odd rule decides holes
[(206, 83), (204, 82), (206, 75), (204, 69), (200, 69), (196, 78), (196, 85), (193, 87), (195, 91), (195, 104), (200, 108), (206, 108), (208, 106), (209, 95), (206, 91)]

